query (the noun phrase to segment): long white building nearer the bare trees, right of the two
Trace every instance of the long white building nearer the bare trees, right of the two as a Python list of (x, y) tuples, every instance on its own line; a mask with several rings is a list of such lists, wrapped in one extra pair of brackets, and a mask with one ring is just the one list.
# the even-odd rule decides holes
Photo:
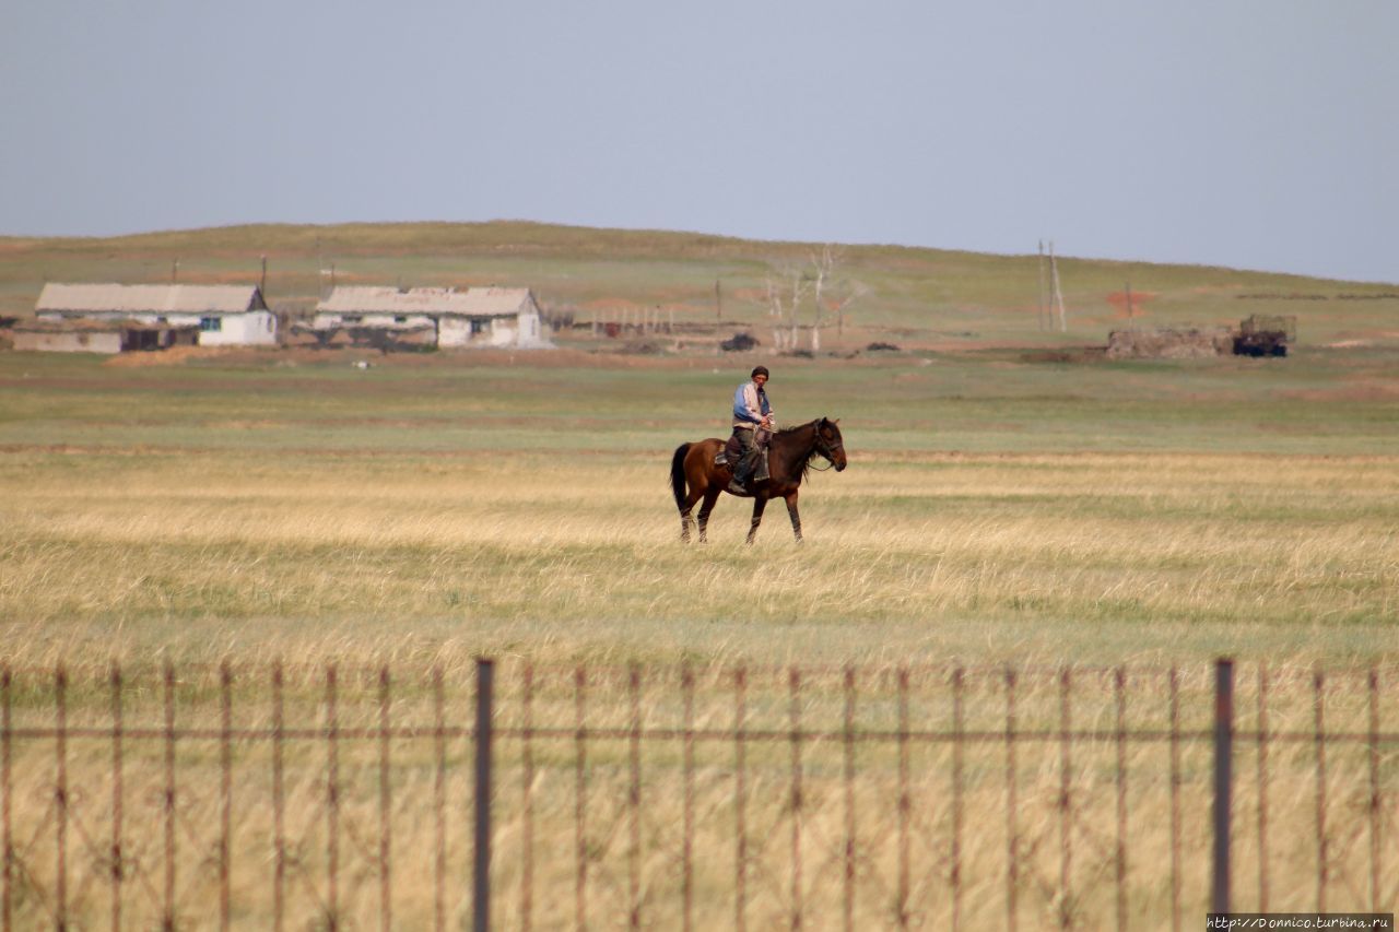
[(343, 287), (316, 305), (313, 330), (375, 327), (432, 329), (439, 347), (551, 346), (529, 288)]

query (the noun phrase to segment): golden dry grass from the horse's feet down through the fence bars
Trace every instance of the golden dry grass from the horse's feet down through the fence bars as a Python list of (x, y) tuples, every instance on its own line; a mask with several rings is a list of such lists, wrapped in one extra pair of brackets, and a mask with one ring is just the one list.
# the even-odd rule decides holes
[[(1384, 726), (1392, 730), (1399, 721), (1392, 689), (1399, 472), (1389, 458), (856, 456), (846, 473), (817, 474), (803, 493), (804, 546), (792, 543), (778, 504), (768, 511), (760, 546), (748, 550), (741, 543), (747, 505), (734, 500), (716, 511), (706, 547), (680, 544), (663, 486), (666, 463), (653, 456), (585, 456), (567, 467), (529, 455), (491, 463), (411, 455), (278, 460), (231, 452), (6, 456), (11, 481), (0, 504), (0, 617), (3, 661), (17, 676), (15, 725), (52, 726), (50, 670), (62, 662), (73, 676), (70, 725), (98, 729), (66, 750), (69, 779), (81, 786), (69, 812), (70, 910), (88, 925), (108, 921), (112, 896), (111, 862), (104, 859), (113, 817), (112, 749), (102, 737), (111, 728), (105, 670), (112, 659), (129, 670), (127, 726), (154, 729), (126, 747), (130, 873), (120, 896), (132, 925), (155, 924), (164, 908), (166, 774), (161, 687), (152, 679), (159, 659), (180, 670), (178, 725), (215, 732), (220, 700), (210, 665), (224, 659), (235, 670), (236, 726), (255, 730), (271, 721), (267, 677), (274, 661), (291, 665), (288, 723), (312, 728), (327, 722), (329, 662), (346, 670), (337, 700), (341, 728), (379, 721), (372, 670), (361, 670), (388, 663), (393, 726), (428, 729), (435, 712), (425, 680), (434, 665), (445, 672), (448, 721), (464, 725), (473, 658), (502, 658), (502, 728), (520, 726), (520, 669), (537, 665), (532, 723), (564, 730), (534, 742), (530, 771), (518, 735), (499, 744), (494, 880), (505, 928), (520, 925), (526, 903), (534, 928), (574, 924), (579, 838), (590, 921), (616, 922), (637, 907), (646, 924), (677, 926), (687, 785), (697, 928), (734, 922), (740, 809), (747, 820), (748, 928), (786, 925), (796, 908), (807, 926), (838, 926), (852, 800), (856, 928), (893, 928), (901, 910), (925, 928), (950, 921), (956, 824), (967, 925), (1004, 925), (1007, 889), (1016, 891), (1024, 928), (1056, 926), (1063, 910), (1084, 926), (1105, 925), (1119, 908), (1119, 792), (1128, 809), (1122, 890), (1129, 924), (1170, 928), (1172, 897), (1185, 910), (1184, 922), (1196, 921), (1207, 890), (1209, 751), (1202, 740), (1191, 737), (1179, 750), (1177, 828), (1168, 743), (1129, 742), (1119, 768), (1116, 744), (1101, 735), (1069, 747), (1067, 819), (1060, 805), (1063, 746), (1052, 737), (1017, 743), (1013, 768), (1002, 742), (963, 746), (958, 809), (953, 746), (940, 740), (908, 746), (902, 764), (898, 742), (887, 735), (862, 742), (856, 777), (846, 782), (839, 737), (845, 663), (860, 665), (858, 730), (897, 732), (891, 683), (898, 665), (921, 670), (914, 728), (946, 735), (953, 662), (977, 670), (968, 680), (965, 728), (986, 733), (1006, 726), (1002, 663), (1024, 672), (1018, 726), (1049, 730), (1058, 728), (1062, 665), (1125, 663), (1128, 728), (1160, 733), (1168, 726), (1163, 670), (1179, 663), (1181, 728), (1199, 735), (1209, 722), (1207, 661), (1220, 652), (1266, 659), (1274, 676), (1274, 733), (1309, 733), (1315, 663), (1335, 670), (1326, 687), (1328, 728), (1364, 728), (1367, 698), (1357, 683), (1371, 665), (1382, 670)], [(630, 662), (641, 665), (639, 693), (630, 691), (620, 672)], [(754, 679), (743, 726), (789, 729), (792, 704), (781, 668), (800, 663), (807, 669), (800, 725), (830, 735), (802, 743), (799, 770), (790, 742), (748, 742), (741, 793), (734, 740), (695, 742), (687, 784), (683, 743), (646, 739), (635, 807), (628, 739), (593, 737), (582, 771), (586, 826), (579, 835), (572, 665), (593, 670), (589, 728), (625, 732), (634, 721), (644, 729), (683, 728), (679, 662), (695, 670), (694, 728), (727, 733), (736, 726), (732, 677), (747, 663)], [(1241, 728), (1254, 728), (1256, 668), (1244, 670)], [(1109, 733), (1111, 677), (1083, 668), (1073, 677), (1073, 728)], [(357, 926), (378, 922), (378, 851), (388, 824), (395, 924), (431, 928), (436, 747), (424, 737), (389, 744), (388, 810), (381, 807), (382, 746), (372, 737), (340, 746), (336, 898), (341, 918)], [(210, 737), (190, 739), (176, 751), (176, 914), (194, 926), (213, 922), (218, 893), (217, 747)], [(59, 756), (50, 739), (18, 740), (13, 754), (13, 830), (24, 845), (17, 915), (39, 921), (55, 889)], [(1316, 905), (1318, 838), (1326, 840), (1329, 872), (1321, 893), (1336, 908), (1368, 905), (1372, 858), (1399, 863), (1396, 835), (1388, 831), (1393, 747), (1381, 746), (1372, 758), (1363, 743), (1335, 743), (1325, 754), (1318, 777), (1315, 742), (1273, 742), (1266, 782), (1258, 784), (1256, 750), (1241, 746), (1237, 824), (1244, 827), (1235, 876), (1247, 891), (1244, 904)], [(462, 884), (469, 740), (450, 743), (446, 760), (443, 908), (456, 925), (469, 908)], [(326, 742), (288, 744), (284, 767), (284, 833), (292, 848), (287, 928), (313, 926), (325, 922), (330, 896)], [(1370, 807), (1371, 772), (1382, 788), (1378, 810)], [(231, 894), (239, 928), (269, 925), (271, 774), (269, 742), (235, 744)], [(1259, 785), (1270, 813), (1262, 830)], [(1014, 824), (1007, 819), (1010, 792)], [(911, 812), (902, 830), (901, 793)], [(1371, 826), (1382, 828), (1378, 849)], [(1067, 900), (1060, 889), (1065, 831)], [(1179, 852), (1174, 873), (1172, 835)], [(1007, 887), (1011, 849), (1018, 880)], [(527, 887), (526, 851), (533, 872)], [(632, 903), (634, 884), (639, 903)], [(1386, 901), (1393, 901), (1388, 887), (1381, 894)]]

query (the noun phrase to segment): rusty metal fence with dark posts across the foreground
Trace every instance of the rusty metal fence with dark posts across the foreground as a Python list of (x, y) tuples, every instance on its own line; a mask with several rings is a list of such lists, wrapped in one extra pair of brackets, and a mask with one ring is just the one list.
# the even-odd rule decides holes
[(1392, 911), (1389, 668), (0, 669), (0, 929)]

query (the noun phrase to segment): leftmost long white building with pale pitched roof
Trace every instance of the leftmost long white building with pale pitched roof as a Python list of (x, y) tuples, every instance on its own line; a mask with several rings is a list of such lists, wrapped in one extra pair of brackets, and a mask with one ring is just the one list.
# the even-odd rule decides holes
[(256, 285), (46, 284), (39, 320), (197, 326), (199, 346), (271, 346), (277, 318)]

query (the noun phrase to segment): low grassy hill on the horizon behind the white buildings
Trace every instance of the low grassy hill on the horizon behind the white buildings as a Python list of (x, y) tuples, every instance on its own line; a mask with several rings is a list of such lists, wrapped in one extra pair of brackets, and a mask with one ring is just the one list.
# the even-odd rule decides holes
[[(590, 230), (533, 223), (249, 225), (113, 238), (0, 238), (0, 315), (32, 313), (45, 281), (252, 283), (267, 257), (266, 291), (278, 308), (309, 308), (334, 269), (340, 284), (529, 285), (546, 309), (592, 319), (660, 308), (718, 330), (769, 329), (769, 276), (810, 264), (813, 243)], [(860, 283), (851, 330), (831, 348), (874, 334), (895, 341), (979, 347), (1102, 343), (1128, 323), (1233, 323), (1295, 313), (1305, 344), (1399, 347), (1399, 287), (1206, 266), (1060, 257), (1067, 330), (1038, 325), (1039, 259), (902, 246), (846, 246), (837, 280)], [(722, 320), (715, 301), (720, 284)], [(1133, 319), (1123, 291), (1135, 295)], [(810, 298), (802, 319), (813, 316)]]

